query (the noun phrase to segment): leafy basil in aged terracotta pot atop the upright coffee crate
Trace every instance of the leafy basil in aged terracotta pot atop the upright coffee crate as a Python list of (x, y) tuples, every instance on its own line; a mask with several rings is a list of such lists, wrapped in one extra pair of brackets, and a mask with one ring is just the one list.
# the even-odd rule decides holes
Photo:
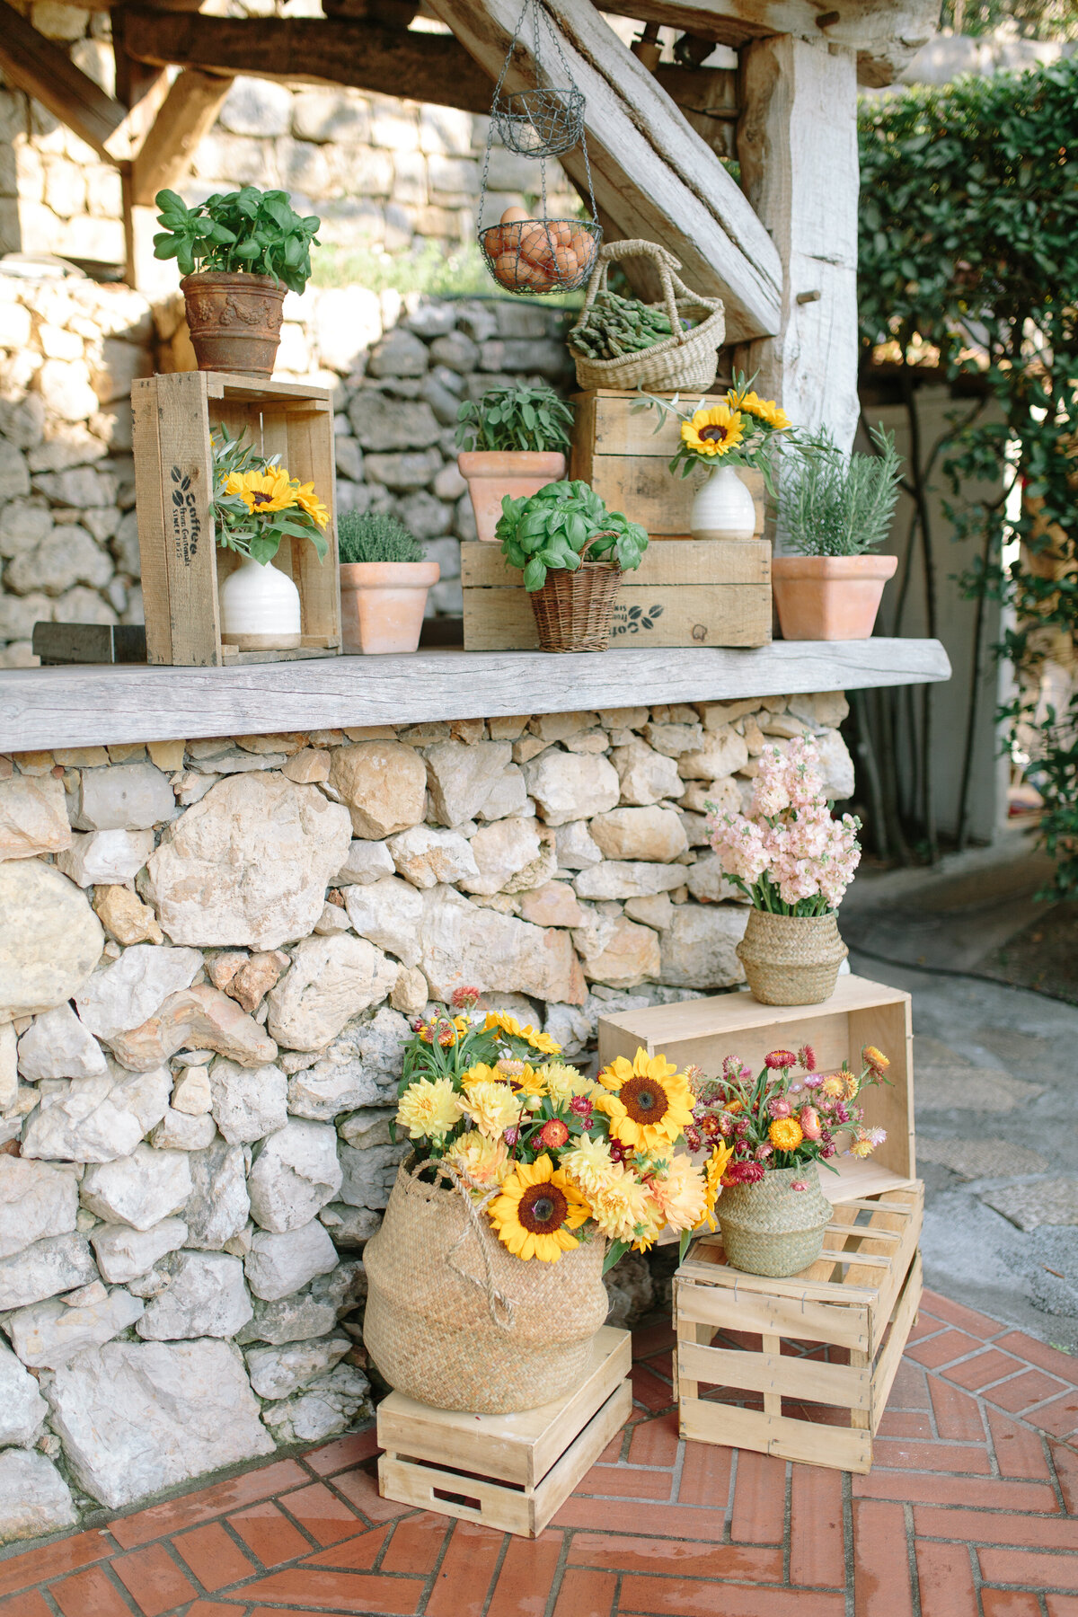
[(320, 220), (286, 191), (244, 186), (187, 207), (158, 191), (155, 259), (176, 259), (199, 370), (273, 375), (284, 293), (302, 293)]

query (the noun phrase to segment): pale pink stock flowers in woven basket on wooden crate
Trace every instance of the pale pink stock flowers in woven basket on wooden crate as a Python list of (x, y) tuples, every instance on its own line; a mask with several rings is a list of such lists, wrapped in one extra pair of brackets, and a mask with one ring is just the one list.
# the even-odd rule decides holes
[(708, 813), (708, 838), (752, 909), (737, 957), (768, 1006), (818, 1004), (834, 993), (847, 948), (836, 910), (861, 851), (855, 815), (831, 817), (811, 736), (764, 747), (748, 813)]

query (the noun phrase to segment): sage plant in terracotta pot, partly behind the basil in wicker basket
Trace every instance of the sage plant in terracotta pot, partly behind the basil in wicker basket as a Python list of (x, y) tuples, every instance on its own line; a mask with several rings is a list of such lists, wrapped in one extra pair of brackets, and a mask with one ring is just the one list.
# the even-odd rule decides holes
[(566, 475), (572, 404), (545, 382), (486, 388), (457, 411), (457, 456), (485, 543), (495, 542), (501, 503)]

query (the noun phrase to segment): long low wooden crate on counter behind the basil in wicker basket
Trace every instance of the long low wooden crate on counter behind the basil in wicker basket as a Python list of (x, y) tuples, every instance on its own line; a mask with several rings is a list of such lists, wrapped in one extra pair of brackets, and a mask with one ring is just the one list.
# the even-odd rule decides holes
[[(538, 648), (532, 602), (498, 545), (461, 545), (464, 648)], [(650, 545), (622, 577), (611, 645), (768, 645), (771, 545), (700, 540)]]

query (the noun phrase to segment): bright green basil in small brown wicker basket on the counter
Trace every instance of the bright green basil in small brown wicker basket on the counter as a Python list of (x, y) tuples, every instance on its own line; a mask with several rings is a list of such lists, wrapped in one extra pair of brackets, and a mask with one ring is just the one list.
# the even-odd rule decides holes
[(496, 538), (524, 572), (543, 652), (604, 652), (622, 572), (640, 566), (648, 535), (608, 511), (585, 482), (546, 483), (503, 500)]

